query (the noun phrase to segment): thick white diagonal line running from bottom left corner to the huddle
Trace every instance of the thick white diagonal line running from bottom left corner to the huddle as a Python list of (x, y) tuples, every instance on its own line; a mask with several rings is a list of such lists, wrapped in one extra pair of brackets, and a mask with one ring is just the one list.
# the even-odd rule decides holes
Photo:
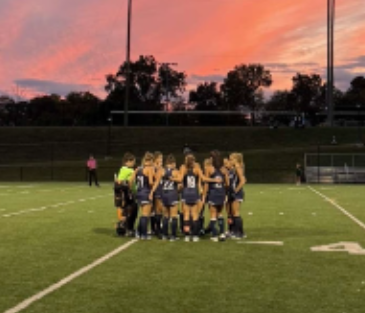
[(43, 297), (47, 296), (48, 294), (56, 291), (57, 289), (61, 288), (62, 286), (70, 283), (71, 281), (73, 281), (74, 279), (76, 279), (77, 277), (91, 271), (93, 268), (97, 267), (98, 265), (108, 261), (109, 259), (111, 259), (112, 257), (116, 256), (117, 254), (119, 254), (120, 252), (126, 250), (127, 248), (129, 248), (131, 245), (135, 244), (137, 242), (137, 239), (133, 239), (127, 243), (125, 243), (124, 245), (120, 246), (119, 248), (113, 250), (112, 252), (106, 254), (105, 256), (101, 257), (100, 259), (95, 260), (93, 263), (79, 269), (78, 271), (72, 273), (71, 275), (63, 278), (62, 280), (60, 280), (58, 283), (49, 286), (48, 288), (40, 291), (39, 293), (35, 294), (34, 296), (20, 302), (19, 304), (17, 304), (16, 306), (14, 306), (11, 309), (6, 310), (4, 313), (18, 313), (24, 309), (26, 309), (27, 307), (29, 307), (32, 303), (42, 299)]

